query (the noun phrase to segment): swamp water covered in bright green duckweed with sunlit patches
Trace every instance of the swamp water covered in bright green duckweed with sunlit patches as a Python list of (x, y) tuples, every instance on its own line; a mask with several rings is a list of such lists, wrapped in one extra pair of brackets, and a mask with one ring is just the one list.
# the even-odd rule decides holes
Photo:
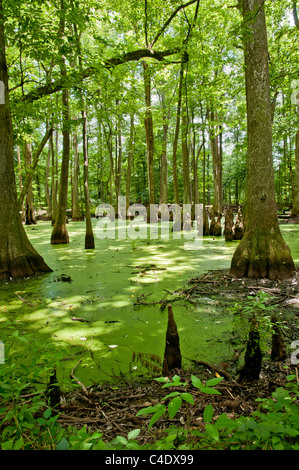
[[(94, 219), (94, 228), (97, 223)], [(1, 322), (20, 322), (20, 336), (29, 334), (45, 347), (62, 346), (62, 373), (68, 377), (77, 365), (75, 375), (85, 386), (145, 372), (132, 361), (133, 353), (163, 359), (167, 308), (134, 305), (137, 299), (159, 301), (192, 277), (228, 269), (237, 243), (206, 237), (199, 249), (192, 244), (186, 249), (188, 240), (169, 233), (164, 239), (95, 238), (95, 250), (85, 250), (85, 222), (68, 224), (68, 245), (51, 246), (49, 222), (25, 230), (53, 272), (0, 284), (0, 340)], [(298, 266), (298, 225), (284, 225), (282, 231)], [(172, 305), (184, 364), (188, 358), (219, 363), (231, 357), (229, 312), (208, 297), (197, 305), (183, 300)], [(18, 347), (30, 361), (30, 343)]]

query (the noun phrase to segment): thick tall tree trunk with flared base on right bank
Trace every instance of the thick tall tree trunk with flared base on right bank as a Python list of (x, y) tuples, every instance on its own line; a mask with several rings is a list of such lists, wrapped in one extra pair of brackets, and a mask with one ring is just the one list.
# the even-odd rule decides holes
[(278, 224), (272, 161), (269, 56), (263, 0), (240, 0), (247, 105), (245, 235), (231, 262), (237, 277), (283, 279), (294, 262)]

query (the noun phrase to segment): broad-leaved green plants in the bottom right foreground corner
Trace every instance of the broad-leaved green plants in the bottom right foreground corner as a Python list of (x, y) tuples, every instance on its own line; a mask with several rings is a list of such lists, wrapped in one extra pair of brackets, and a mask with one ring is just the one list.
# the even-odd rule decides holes
[[(222, 377), (207, 381), (205, 384), (195, 376), (191, 376), (192, 384), (204, 393), (218, 393), (213, 389)], [(166, 381), (163, 387), (185, 386), (186, 382), (180, 382), (178, 376), (169, 379), (159, 378), (158, 381)], [(162, 401), (171, 398), (176, 399), (175, 405), (170, 407), (169, 418), (176, 415), (182, 404), (182, 392), (166, 395)], [(190, 395), (192, 397), (192, 395)], [(229, 418), (225, 413), (214, 418), (214, 408), (208, 404), (203, 411), (202, 429), (182, 429), (170, 426), (164, 431), (164, 437), (157, 440), (151, 448), (154, 449), (222, 449), (222, 450), (298, 450), (299, 435), (299, 409), (298, 409), (298, 382), (295, 375), (287, 377), (286, 386), (277, 388), (269, 398), (258, 398), (260, 403), (257, 411), (250, 417), (240, 416)], [(193, 399), (193, 397), (192, 397)], [(168, 406), (170, 405), (169, 402)], [(188, 397), (188, 403), (193, 400)], [(153, 414), (149, 427), (167, 411), (166, 405), (160, 403), (155, 407), (143, 408), (141, 414)]]

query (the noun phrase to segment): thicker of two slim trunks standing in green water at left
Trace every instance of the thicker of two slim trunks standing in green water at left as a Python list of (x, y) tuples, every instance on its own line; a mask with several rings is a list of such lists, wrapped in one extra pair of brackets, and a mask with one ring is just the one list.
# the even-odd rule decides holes
[[(64, 0), (60, 2), (60, 37), (64, 35), (65, 29), (65, 5)], [(67, 71), (65, 64), (65, 56), (61, 51), (61, 76), (66, 80)], [(66, 228), (66, 209), (67, 209), (67, 193), (68, 193), (68, 177), (69, 177), (69, 162), (70, 162), (70, 131), (69, 131), (69, 92), (67, 88), (62, 90), (62, 115), (63, 115), (63, 128), (62, 128), (62, 162), (60, 172), (60, 185), (59, 185), (59, 199), (57, 207), (57, 216), (51, 235), (51, 244), (60, 245), (69, 243), (69, 235)]]

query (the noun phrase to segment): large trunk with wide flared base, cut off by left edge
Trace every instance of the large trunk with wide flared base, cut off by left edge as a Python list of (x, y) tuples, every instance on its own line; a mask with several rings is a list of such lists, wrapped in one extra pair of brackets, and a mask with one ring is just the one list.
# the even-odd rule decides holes
[(7, 70), (3, 2), (0, 0), (0, 82), (4, 85), (4, 103), (0, 103), (0, 280), (52, 271), (28, 240), (19, 213)]

